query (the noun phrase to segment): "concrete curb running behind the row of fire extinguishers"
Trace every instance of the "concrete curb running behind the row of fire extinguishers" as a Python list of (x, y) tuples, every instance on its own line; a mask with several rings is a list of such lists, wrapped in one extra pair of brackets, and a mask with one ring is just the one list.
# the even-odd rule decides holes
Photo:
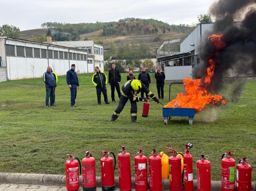
[[(82, 176), (80, 184), (82, 186)], [(24, 183), (24, 184), (45, 184), (45, 185), (66, 185), (65, 175), (57, 174), (30, 174), (30, 173), (0, 173), (0, 183)], [(96, 177), (97, 186), (101, 187), (101, 177)], [(197, 181), (193, 180), (194, 191), (197, 190)], [(169, 179), (162, 181), (163, 190), (169, 190)], [(115, 186), (119, 187), (118, 176), (115, 176)], [(135, 179), (132, 177), (132, 187), (135, 188)], [(212, 181), (212, 191), (220, 191), (221, 182)], [(256, 191), (256, 182), (252, 183), (252, 191)]]

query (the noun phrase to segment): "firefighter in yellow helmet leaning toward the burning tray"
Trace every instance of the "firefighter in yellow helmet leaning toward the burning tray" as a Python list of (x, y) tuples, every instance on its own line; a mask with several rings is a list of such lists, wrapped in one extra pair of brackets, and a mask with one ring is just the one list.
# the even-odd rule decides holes
[(109, 121), (115, 121), (120, 112), (122, 112), (123, 108), (125, 107), (125, 104), (130, 99), (131, 102), (131, 121), (132, 122), (138, 122), (137, 121), (137, 103), (138, 101), (144, 102), (147, 99), (143, 97), (138, 97), (138, 93), (143, 90), (146, 94), (149, 95), (152, 99), (154, 99), (155, 102), (159, 103), (159, 100), (157, 97), (149, 91), (149, 89), (138, 79), (132, 79), (125, 82), (125, 84), (121, 88), (121, 97), (120, 101), (118, 103), (118, 107), (115, 109), (115, 112), (113, 113), (112, 117)]

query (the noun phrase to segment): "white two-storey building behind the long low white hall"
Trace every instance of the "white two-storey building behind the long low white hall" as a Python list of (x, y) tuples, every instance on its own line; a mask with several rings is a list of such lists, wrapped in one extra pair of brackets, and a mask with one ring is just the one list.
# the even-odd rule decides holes
[(94, 41), (57, 41), (52, 42), (56, 45), (73, 47), (88, 51), (88, 72), (94, 72), (94, 67), (98, 66), (104, 71), (103, 45), (94, 43)]

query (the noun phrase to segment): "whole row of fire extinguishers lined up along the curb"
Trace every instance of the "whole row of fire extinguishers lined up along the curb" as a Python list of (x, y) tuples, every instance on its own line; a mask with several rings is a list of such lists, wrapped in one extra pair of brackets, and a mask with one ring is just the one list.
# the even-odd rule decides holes
[[(172, 148), (165, 147), (170, 151), (161, 152), (157, 155), (153, 149), (152, 156), (149, 157), (149, 188), (150, 191), (162, 191), (162, 179), (168, 178), (170, 181), (170, 191), (193, 191), (193, 166), (192, 156), (189, 150), (193, 147), (191, 143), (185, 145), (185, 154), (178, 153)], [(100, 159), (102, 191), (115, 190), (114, 171), (116, 166), (115, 154), (102, 151), (104, 154)], [(251, 191), (252, 168), (243, 157), (236, 166), (235, 184), (235, 160), (232, 151), (222, 155), (222, 191)], [(135, 189), (136, 191), (148, 190), (147, 157), (142, 149), (134, 158), (135, 164)], [(169, 158), (166, 154), (172, 153)], [(113, 158), (110, 157), (113, 155)], [(131, 155), (125, 152), (122, 146), (121, 153), (118, 154), (118, 174), (120, 191), (131, 191)], [(76, 160), (74, 160), (76, 159)], [(167, 159), (167, 160), (166, 160)], [(168, 161), (168, 163), (167, 163)], [(82, 165), (77, 157), (69, 155), (65, 163), (66, 186), (68, 191), (79, 189), (79, 169), (82, 168), (83, 191), (96, 191), (96, 168), (95, 159), (91, 152), (86, 151), (86, 156), (82, 160)], [(196, 162), (197, 191), (211, 191), (211, 163), (204, 155)], [(236, 186), (235, 186), (236, 185)]]

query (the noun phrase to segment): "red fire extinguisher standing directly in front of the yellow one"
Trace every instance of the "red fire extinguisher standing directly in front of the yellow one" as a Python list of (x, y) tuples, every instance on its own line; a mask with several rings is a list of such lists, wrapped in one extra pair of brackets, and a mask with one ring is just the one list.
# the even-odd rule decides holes
[[(177, 151), (165, 147), (169, 150), (170, 152), (167, 153), (173, 153), (172, 156), (169, 157), (169, 180), (170, 180), (170, 190), (171, 191), (182, 191), (182, 175), (181, 175), (181, 159), (180, 157), (177, 156)], [(166, 154), (167, 154), (166, 153)]]

